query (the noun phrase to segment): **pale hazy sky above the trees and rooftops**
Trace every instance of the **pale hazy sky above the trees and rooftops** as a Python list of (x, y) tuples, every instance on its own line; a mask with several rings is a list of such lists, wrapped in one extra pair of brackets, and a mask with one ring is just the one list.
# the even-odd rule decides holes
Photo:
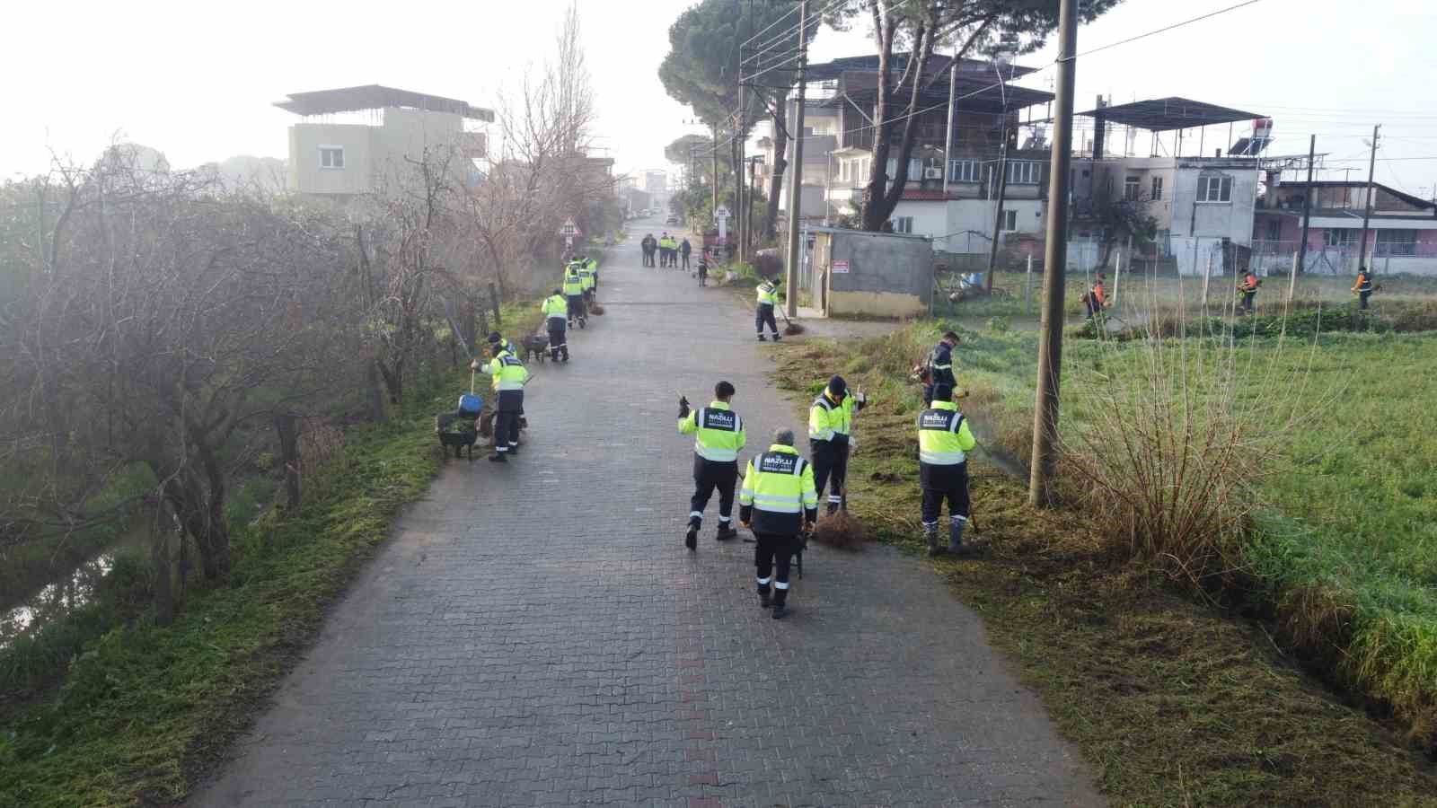
[[(1236, 1), (1127, 0), (1081, 30), (1079, 52)], [(0, 127), (0, 177), (43, 171), (50, 150), (88, 162), (115, 137), (155, 147), (177, 167), (239, 154), (285, 157), (285, 129), (296, 118), (272, 102), (289, 92), (382, 83), (490, 106), (503, 82), (552, 50), (566, 6), (10, 3), (0, 47), (10, 111)], [(685, 6), (579, 0), (598, 144), (619, 170), (664, 167), (664, 144), (701, 131), (685, 128), (693, 114), (664, 95), (657, 76), (668, 26)], [(825, 30), (813, 59), (868, 53), (865, 36)], [(1098, 93), (1117, 102), (1183, 95), (1266, 114), (1276, 119), (1273, 152), (1305, 152), (1316, 132), (1328, 165), (1354, 168), (1354, 178), (1365, 177), (1364, 138), (1382, 124), (1378, 181), (1431, 197), (1433, 42), (1437, 14), (1423, 0), (1262, 0), (1079, 59), (1078, 109)], [(1025, 83), (1048, 89), (1052, 59), (1050, 49), (1022, 58), (1046, 68)], [(1227, 127), (1207, 137), (1211, 151)]]

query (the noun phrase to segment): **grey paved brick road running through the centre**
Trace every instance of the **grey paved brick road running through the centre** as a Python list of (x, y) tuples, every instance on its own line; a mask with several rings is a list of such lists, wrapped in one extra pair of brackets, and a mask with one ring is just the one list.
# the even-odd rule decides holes
[(1101, 804), (921, 564), (810, 551), (773, 621), (717, 502), (683, 548), (678, 392), (733, 381), (752, 449), (803, 424), (750, 312), (638, 265), (536, 369), (523, 456), (448, 463), (193, 804)]

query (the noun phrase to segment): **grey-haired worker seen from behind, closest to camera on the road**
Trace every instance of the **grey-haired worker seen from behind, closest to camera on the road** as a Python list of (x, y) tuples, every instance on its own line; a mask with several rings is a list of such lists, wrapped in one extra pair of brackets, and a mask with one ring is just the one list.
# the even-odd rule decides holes
[[(773, 620), (787, 614), (789, 564), (799, 532), (818, 520), (813, 467), (793, 449), (793, 430), (773, 433), (773, 446), (749, 460), (739, 492), (739, 519), (753, 531), (753, 565), (759, 575), (759, 605), (773, 607)], [(769, 600), (769, 582), (773, 600)]]

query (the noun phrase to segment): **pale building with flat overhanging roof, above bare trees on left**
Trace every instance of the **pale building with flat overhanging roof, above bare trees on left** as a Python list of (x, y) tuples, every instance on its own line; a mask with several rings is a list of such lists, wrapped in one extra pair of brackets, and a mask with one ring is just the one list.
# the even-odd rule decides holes
[(346, 200), (414, 181), (414, 162), (441, 160), (479, 177), (494, 112), (464, 101), (379, 85), (292, 93), (274, 106), (303, 116), (289, 128), (289, 190)]

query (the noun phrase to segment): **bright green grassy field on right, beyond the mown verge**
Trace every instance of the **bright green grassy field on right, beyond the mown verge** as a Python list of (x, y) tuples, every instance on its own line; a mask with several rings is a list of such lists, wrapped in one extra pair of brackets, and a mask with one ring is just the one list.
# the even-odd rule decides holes
[[(946, 326), (927, 322), (845, 352), (846, 374), (897, 400), (918, 390), (902, 371)], [(1026, 460), (1036, 375), (1036, 335), (964, 331), (954, 352), (964, 410), (989, 447)], [(1069, 339), (1063, 352), (1065, 433), (1082, 428), (1101, 369), (1121, 372), (1141, 342)], [(1302, 387), (1299, 428), (1286, 433), (1280, 467), (1257, 483), (1260, 499), (1242, 545), (1249, 581), (1305, 654), (1331, 664), (1351, 689), (1394, 707), (1415, 735), (1437, 727), (1437, 334), (1334, 334), (1249, 339), (1244, 395)], [(1111, 384), (1111, 382), (1108, 382)], [(1282, 395), (1299, 392), (1293, 387)], [(908, 417), (907, 414), (904, 417)], [(901, 423), (895, 421), (895, 423)], [(879, 463), (904, 476), (911, 463)]]

